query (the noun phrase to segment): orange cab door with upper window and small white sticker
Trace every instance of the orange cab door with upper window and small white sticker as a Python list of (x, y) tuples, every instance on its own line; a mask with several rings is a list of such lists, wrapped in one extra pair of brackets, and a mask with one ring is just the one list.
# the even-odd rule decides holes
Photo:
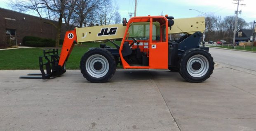
[[(158, 19), (159, 20), (159, 19)], [(149, 68), (168, 68), (168, 30), (165, 23), (150, 18)]]

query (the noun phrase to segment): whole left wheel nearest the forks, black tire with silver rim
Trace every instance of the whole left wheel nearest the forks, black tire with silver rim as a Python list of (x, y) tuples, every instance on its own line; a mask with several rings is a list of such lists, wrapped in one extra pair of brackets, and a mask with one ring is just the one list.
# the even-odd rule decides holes
[(82, 75), (92, 83), (104, 83), (115, 74), (114, 56), (106, 49), (94, 48), (86, 52), (80, 61)]

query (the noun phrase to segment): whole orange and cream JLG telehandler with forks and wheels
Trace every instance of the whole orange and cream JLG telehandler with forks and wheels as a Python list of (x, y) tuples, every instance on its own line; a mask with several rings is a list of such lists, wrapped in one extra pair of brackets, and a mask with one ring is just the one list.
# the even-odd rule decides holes
[[(174, 19), (168, 15), (133, 17), (128, 22), (123, 18), (122, 24), (75, 28), (66, 32), (60, 55), (58, 49), (52, 49), (39, 56), (42, 74), (28, 74), (42, 77), (21, 78), (62, 75), (75, 43), (108, 39), (115, 48), (100, 44), (81, 58), (80, 70), (88, 81), (110, 80), (120, 64), (124, 69), (169, 69), (188, 82), (202, 82), (214, 70), (209, 47), (200, 46), (204, 29), (204, 17)], [(169, 34), (178, 33), (185, 35), (178, 41), (169, 40)], [(117, 38), (122, 38), (120, 46), (110, 40)]]

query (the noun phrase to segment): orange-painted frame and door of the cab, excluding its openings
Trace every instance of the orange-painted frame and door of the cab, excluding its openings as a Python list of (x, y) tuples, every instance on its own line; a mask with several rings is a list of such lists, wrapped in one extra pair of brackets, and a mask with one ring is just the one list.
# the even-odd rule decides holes
[[(160, 23), (160, 41), (153, 41), (152, 40), (152, 26), (153, 22), (159, 22)], [(131, 23), (136, 22), (150, 22), (150, 34), (149, 34), (149, 41), (139, 41), (139, 42), (148, 42), (148, 49), (143, 49), (143, 47), (139, 47), (141, 52), (146, 52), (147, 56), (149, 56), (149, 66), (130, 66), (127, 61), (124, 60), (122, 56), (122, 46), (125, 41), (127, 41), (125, 38), (128, 35), (128, 29), (129, 25)], [(165, 26), (165, 41), (162, 41), (162, 27)], [(167, 69), (168, 68), (168, 21), (167, 18), (163, 16), (146, 16), (146, 17), (134, 17), (131, 18), (127, 23), (126, 33), (124, 34), (124, 37), (122, 39), (122, 43), (120, 45), (120, 59), (122, 61), (122, 65), (124, 69), (130, 68), (130, 69)], [(129, 41), (129, 43), (132, 43), (132, 41)], [(133, 49), (136, 49), (137, 45), (133, 46)], [(149, 54), (148, 54), (149, 51)]]

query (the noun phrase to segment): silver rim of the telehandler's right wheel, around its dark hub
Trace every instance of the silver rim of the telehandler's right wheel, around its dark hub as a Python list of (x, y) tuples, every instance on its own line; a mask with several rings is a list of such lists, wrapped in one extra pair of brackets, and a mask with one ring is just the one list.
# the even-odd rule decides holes
[[(193, 69), (192, 65), (194, 62), (199, 62), (201, 64), (201, 67), (199, 70)], [(197, 77), (197, 78), (202, 77), (207, 73), (208, 69), (209, 69), (209, 61), (205, 56), (201, 54), (197, 54), (190, 57), (190, 59), (188, 59), (187, 70), (188, 70), (188, 74), (191, 75), (192, 77)]]

